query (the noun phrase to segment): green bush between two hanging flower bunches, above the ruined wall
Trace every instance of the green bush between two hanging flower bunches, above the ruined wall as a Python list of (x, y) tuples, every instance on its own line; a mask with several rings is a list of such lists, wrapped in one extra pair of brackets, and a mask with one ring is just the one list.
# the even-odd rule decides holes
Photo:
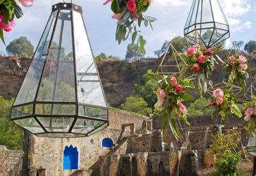
[(211, 100), (200, 97), (188, 106), (189, 116), (211, 115), (212, 108), (206, 107)]

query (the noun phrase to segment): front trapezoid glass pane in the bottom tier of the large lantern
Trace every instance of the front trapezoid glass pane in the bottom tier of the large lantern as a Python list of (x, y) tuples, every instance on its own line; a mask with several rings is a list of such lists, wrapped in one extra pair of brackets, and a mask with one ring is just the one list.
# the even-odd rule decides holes
[(37, 117), (48, 132), (68, 132), (73, 117)]

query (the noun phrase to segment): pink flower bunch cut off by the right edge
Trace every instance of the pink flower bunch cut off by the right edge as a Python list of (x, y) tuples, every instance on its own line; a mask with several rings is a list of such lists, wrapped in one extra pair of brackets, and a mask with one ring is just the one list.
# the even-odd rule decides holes
[(244, 120), (248, 124), (250, 134), (255, 133), (256, 129), (256, 97), (252, 96), (252, 102), (244, 103)]

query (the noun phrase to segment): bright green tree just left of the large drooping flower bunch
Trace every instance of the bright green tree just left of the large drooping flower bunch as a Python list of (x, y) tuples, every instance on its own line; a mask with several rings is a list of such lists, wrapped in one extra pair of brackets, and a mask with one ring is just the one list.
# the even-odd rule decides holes
[(140, 93), (140, 96), (147, 102), (148, 106), (151, 109), (154, 109), (154, 106), (157, 102), (157, 97), (154, 94), (154, 88), (157, 86), (157, 81), (152, 79), (148, 74), (150, 74), (152, 70), (148, 70), (147, 74), (143, 75), (143, 84), (135, 84), (135, 91)]

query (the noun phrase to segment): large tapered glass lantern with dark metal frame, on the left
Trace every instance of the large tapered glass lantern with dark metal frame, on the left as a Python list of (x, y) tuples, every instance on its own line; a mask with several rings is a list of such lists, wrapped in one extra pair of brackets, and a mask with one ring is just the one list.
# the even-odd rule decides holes
[(81, 6), (52, 6), (11, 119), (43, 137), (89, 136), (108, 126), (106, 97)]

